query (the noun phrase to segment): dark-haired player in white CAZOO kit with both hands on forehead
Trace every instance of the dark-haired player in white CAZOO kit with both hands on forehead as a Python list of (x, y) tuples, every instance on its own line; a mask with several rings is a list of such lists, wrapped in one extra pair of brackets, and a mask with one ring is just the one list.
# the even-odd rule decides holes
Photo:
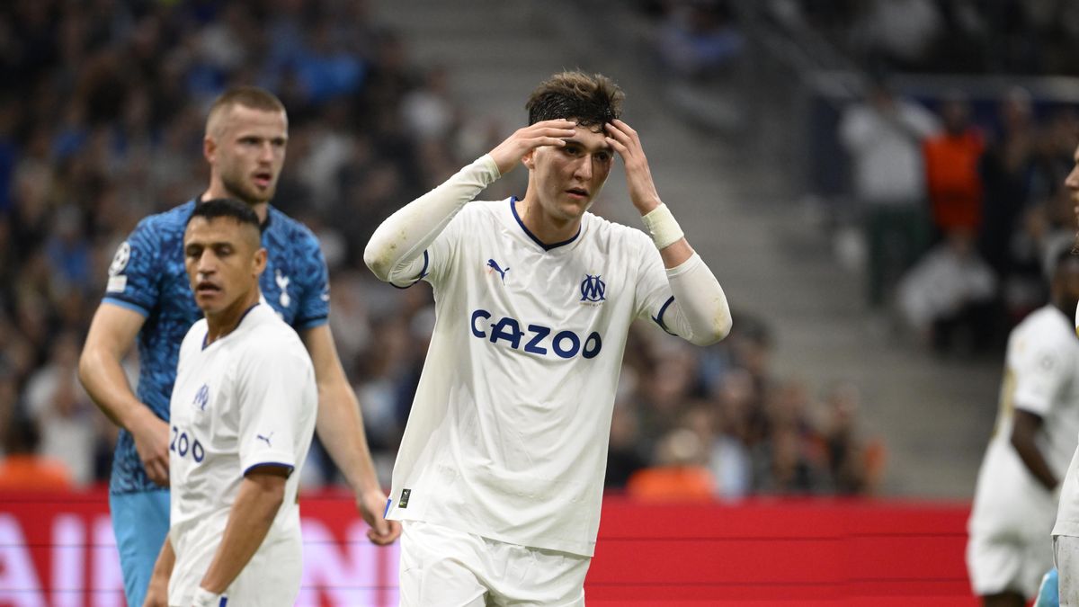
[[(386, 219), (380, 279), (435, 292), (436, 321), (387, 518), (402, 605), (582, 605), (630, 323), (697, 345), (726, 297), (663, 204), (607, 78), (555, 75), (520, 129)], [(615, 157), (651, 233), (590, 213)], [(473, 199), (522, 163), (524, 198)]]

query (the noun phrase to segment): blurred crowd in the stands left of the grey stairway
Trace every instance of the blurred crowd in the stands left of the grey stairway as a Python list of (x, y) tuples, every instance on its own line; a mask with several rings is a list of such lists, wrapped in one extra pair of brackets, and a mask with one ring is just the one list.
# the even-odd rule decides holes
[[(201, 191), (202, 117), (241, 82), (288, 108), (274, 204), (319, 237), (332, 331), (387, 484), (433, 309), (426, 284), (381, 284), (361, 255), (393, 210), (500, 140), (454, 100), (451, 78), (415, 65), (399, 33), (352, 0), (0, 8), (0, 486), (33, 444), (72, 486), (108, 477), (115, 428), (77, 379), (90, 315), (137, 221)], [(641, 497), (873, 491), (884, 446), (861, 424), (858, 387), (817, 395), (777, 377), (777, 341), (737, 310), (732, 336), (704, 350), (638, 323), (607, 484)], [(339, 481), (317, 446), (312, 458), (306, 486)]]

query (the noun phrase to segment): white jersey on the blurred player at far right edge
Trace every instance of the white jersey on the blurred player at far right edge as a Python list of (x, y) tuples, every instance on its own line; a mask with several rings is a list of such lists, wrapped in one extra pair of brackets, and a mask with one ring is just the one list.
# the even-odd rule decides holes
[(1079, 441), (1079, 339), (1068, 318), (1044, 306), (1008, 338), (1000, 410), (978, 475), (970, 534), (1009, 534), (1043, 541), (1056, 503), (1011, 445), (1014, 409), (1042, 419), (1038, 448), (1060, 477)]

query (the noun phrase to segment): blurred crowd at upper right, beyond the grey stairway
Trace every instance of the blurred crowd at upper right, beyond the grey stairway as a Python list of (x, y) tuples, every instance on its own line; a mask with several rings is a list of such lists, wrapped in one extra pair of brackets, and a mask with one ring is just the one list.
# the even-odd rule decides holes
[[(863, 70), (861, 98), (829, 102), (838, 114), (833, 132), (815, 130), (827, 124), (819, 116), (797, 127), (818, 137), (806, 146), (810, 156), (828, 159), (805, 161), (825, 175), (810, 176), (807, 190), (829, 199), (837, 261), (864, 273), (868, 306), (880, 321), (872, 324), (938, 353), (998, 356), (1008, 332), (1048, 300), (1047, 262), (1076, 231), (1063, 183), (1079, 138), (1079, 104), (999, 81), (970, 91), (959, 81), (921, 85), (917, 97), (897, 82), (935, 72), (1075, 76), (1074, 3), (636, 5), (651, 22), (655, 63), (697, 83), (743, 85), (732, 75), (762, 51), (748, 42), (752, 27), (812, 39), (817, 50), (827, 41), (843, 67)], [(734, 98), (710, 95), (712, 109)], [(752, 102), (740, 103), (735, 116)], [(824, 184), (833, 175), (835, 183)]]

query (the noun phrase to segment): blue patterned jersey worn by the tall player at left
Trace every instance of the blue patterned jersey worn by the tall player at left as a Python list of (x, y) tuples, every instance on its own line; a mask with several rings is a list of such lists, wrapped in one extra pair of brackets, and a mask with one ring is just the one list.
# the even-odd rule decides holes
[[(146, 316), (138, 335), (136, 394), (164, 420), (168, 419), (180, 342), (203, 315), (183, 266), (183, 230), (194, 205), (192, 200), (139, 222), (109, 267), (104, 299)], [(267, 302), (297, 331), (325, 324), (329, 276), (311, 230), (271, 206), (262, 246), (269, 259), (259, 285)], [(121, 430), (109, 490), (129, 494), (159, 488), (146, 475), (132, 435)]]

